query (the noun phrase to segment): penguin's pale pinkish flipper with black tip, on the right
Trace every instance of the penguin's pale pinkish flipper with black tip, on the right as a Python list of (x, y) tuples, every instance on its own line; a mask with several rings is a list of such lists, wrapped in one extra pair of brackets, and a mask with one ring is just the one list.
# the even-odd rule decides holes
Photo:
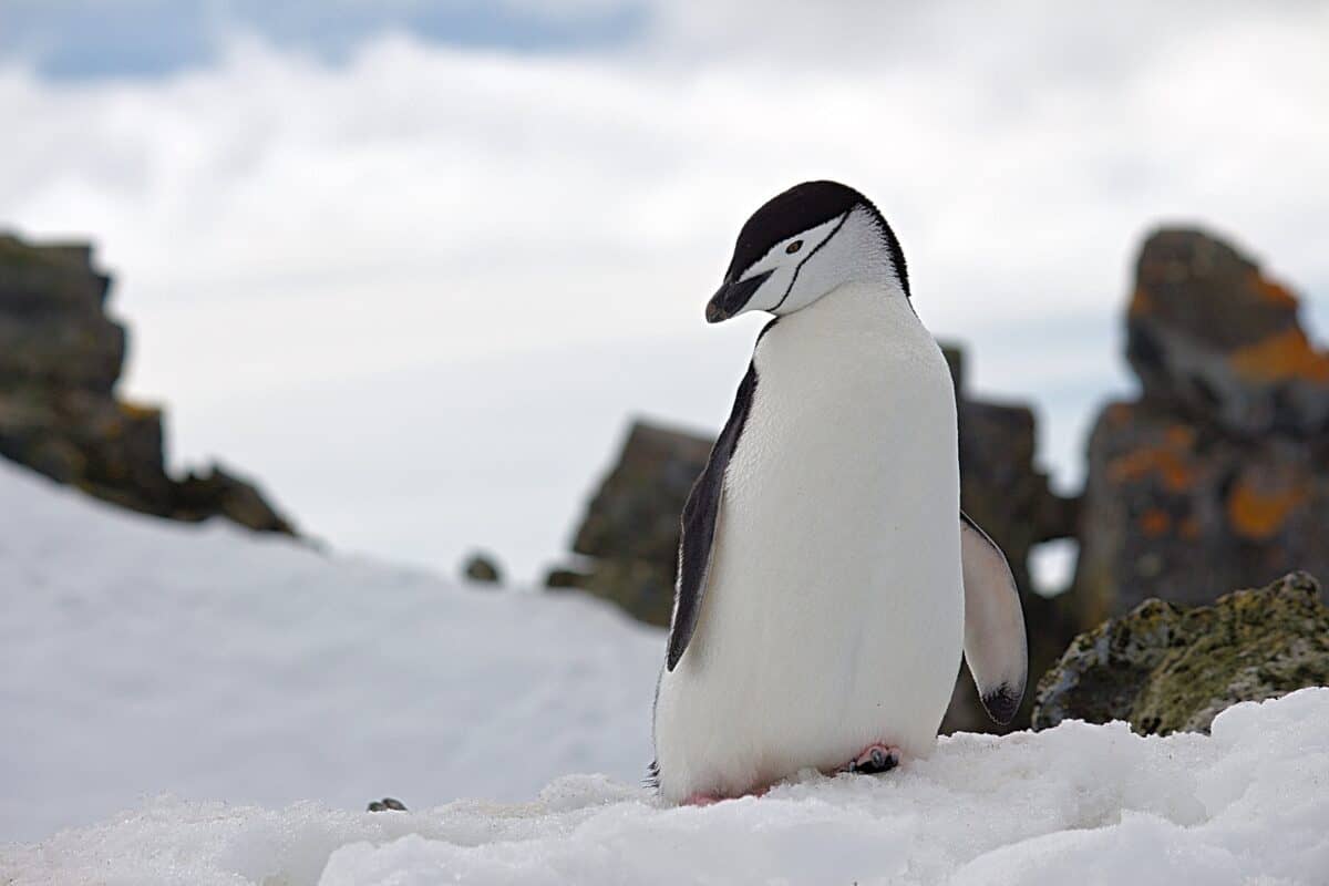
[(1029, 652), (1019, 588), (1006, 555), (969, 514), (960, 511), (965, 576), (965, 662), (983, 708), (1005, 725), (1025, 696)]

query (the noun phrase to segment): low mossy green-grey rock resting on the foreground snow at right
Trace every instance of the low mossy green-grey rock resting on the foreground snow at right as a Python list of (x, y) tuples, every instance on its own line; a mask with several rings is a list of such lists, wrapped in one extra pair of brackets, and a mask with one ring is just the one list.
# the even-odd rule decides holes
[(1329, 608), (1306, 573), (1213, 606), (1146, 600), (1082, 634), (1038, 684), (1035, 729), (1126, 720), (1207, 732), (1224, 708), (1329, 684)]

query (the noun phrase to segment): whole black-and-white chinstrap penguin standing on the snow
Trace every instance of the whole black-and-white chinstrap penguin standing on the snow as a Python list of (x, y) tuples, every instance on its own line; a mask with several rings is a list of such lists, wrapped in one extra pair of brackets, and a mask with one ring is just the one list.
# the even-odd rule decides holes
[(960, 510), (954, 387), (886, 219), (829, 181), (768, 201), (706, 319), (750, 311), (773, 319), (682, 515), (651, 766), (674, 804), (926, 756), (961, 654), (997, 723), (1025, 692), (1019, 594)]

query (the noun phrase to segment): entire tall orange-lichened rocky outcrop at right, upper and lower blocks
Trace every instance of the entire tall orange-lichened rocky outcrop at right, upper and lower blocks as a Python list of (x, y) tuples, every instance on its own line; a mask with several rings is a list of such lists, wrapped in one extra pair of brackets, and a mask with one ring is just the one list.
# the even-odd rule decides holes
[(1329, 574), (1329, 355), (1290, 291), (1221, 240), (1159, 231), (1136, 266), (1127, 356), (1143, 393), (1110, 404), (1090, 438), (1082, 627), (1148, 598)]

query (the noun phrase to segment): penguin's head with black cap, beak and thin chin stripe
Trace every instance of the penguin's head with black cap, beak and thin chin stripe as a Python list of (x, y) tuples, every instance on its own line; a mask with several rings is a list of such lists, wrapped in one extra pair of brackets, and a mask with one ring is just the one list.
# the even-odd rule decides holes
[(884, 282), (909, 298), (905, 256), (877, 207), (839, 182), (804, 182), (752, 214), (706, 306), (719, 323), (747, 311), (800, 311), (857, 280)]

